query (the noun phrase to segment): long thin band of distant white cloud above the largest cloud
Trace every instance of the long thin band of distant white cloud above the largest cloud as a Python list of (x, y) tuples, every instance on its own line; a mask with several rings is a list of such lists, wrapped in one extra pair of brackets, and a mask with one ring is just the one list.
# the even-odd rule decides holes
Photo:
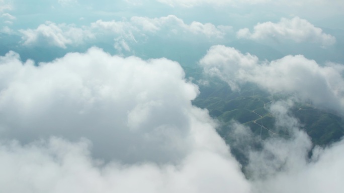
[(73, 24), (55, 24), (46, 22), (37, 29), (19, 30), (23, 34), (23, 45), (56, 46), (67, 48), (68, 45), (79, 45), (89, 40), (115, 40), (117, 50), (131, 51), (132, 44), (146, 41), (157, 34), (164, 38), (185, 39), (203, 38), (205, 40), (221, 40), (232, 33), (230, 26), (214, 26), (213, 24), (192, 22), (185, 24), (182, 19), (169, 15), (160, 18), (132, 17), (130, 21), (98, 20), (90, 26), (76, 27)]

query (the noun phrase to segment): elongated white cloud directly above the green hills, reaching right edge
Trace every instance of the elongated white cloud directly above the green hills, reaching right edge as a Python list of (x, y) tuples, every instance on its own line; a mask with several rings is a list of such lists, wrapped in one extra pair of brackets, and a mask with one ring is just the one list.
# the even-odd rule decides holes
[(241, 83), (255, 83), (272, 94), (311, 99), (318, 107), (343, 113), (342, 65), (320, 66), (302, 55), (259, 61), (256, 56), (220, 45), (211, 47), (199, 63), (205, 73), (226, 81), (232, 90), (239, 90)]

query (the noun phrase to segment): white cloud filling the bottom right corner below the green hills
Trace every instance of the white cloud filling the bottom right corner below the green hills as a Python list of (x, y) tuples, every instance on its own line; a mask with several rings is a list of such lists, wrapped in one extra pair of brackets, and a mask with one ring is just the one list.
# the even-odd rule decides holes
[[(280, 147), (282, 146), (278, 146), (277, 148)], [(342, 161), (344, 157), (340, 154), (343, 148), (343, 142), (336, 143), (324, 149), (316, 148), (315, 152), (318, 157), (316, 161), (311, 160), (307, 162), (305, 158), (303, 160), (292, 159), (288, 162), (291, 163), (293, 161), (292, 164), (294, 167), (278, 172), (276, 175), (268, 177), (265, 180), (257, 181), (254, 188), (261, 189), (262, 192), (283, 193), (292, 191), (320, 193), (327, 191), (330, 186), (332, 192), (341, 192), (343, 189), (339, 185), (339, 181), (343, 179), (343, 176), (338, 171), (343, 169)], [(293, 150), (290, 149), (288, 152), (293, 152)], [(292, 157), (306, 157), (306, 152), (300, 153), (302, 154), (292, 155)]]

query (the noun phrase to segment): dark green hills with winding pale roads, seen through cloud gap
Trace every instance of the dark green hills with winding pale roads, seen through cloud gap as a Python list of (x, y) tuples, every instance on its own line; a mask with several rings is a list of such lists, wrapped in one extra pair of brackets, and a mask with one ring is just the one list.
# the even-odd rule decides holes
[[(276, 128), (275, 118), (268, 111), (272, 101), (286, 99), (288, 96), (271, 96), (251, 84), (243, 85), (239, 92), (232, 92), (225, 82), (216, 78), (204, 78), (201, 68), (188, 67), (186, 74), (195, 80), (203, 78), (209, 82), (208, 85), (200, 85), (201, 93), (193, 104), (208, 109), (212, 117), (223, 122), (219, 129), (222, 137), (228, 138), (232, 120), (249, 126), (252, 132), (262, 139), (276, 134), (289, 136), (288, 131)], [(301, 128), (308, 133), (314, 145), (328, 145), (344, 135), (342, 118), (331, 112), (316, 109), (311, 104), (296, 104), (291, 113), (300, 121)], [(230, 143), (229, 140), (226, 141)]]

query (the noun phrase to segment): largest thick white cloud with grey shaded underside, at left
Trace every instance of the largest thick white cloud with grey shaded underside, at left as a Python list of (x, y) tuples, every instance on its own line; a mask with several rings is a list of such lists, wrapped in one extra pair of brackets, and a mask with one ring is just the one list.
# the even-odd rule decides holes
[(198, 91), (174, 62), (112, 57), (97, 48), (39, 67), (15, 53), (1, 61), (3, 136), (87, 137), (102, 156), (127, 161), (169, 161), (192, 145), (188, 115)]

